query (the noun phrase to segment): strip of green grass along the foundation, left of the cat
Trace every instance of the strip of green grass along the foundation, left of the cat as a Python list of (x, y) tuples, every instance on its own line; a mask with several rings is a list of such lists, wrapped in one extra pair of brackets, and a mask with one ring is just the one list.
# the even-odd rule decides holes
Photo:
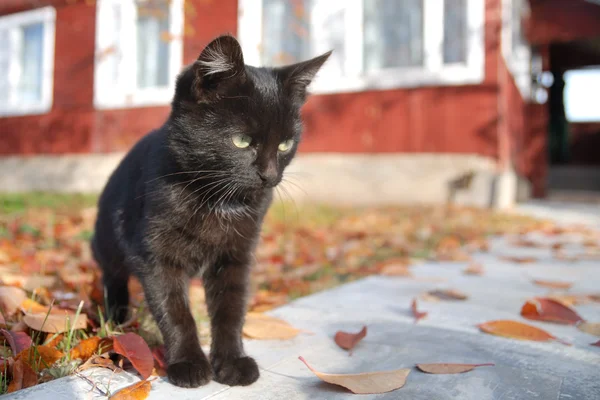
[(0, 215), (20, 214), (29, 208), (50, 208), (69, 211), (96, 205), (95, 194), (74, 193), (0, 193)]

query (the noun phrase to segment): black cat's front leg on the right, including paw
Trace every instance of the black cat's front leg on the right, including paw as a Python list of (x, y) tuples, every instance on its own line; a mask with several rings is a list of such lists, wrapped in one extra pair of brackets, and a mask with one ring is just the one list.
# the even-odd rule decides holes
[(231, 386), (250, 385), (259, 377), (256, 361), (245, 355), (242, 344), (249, 264), (225, 258), (203, 275), (211, 319), (214, 379)]

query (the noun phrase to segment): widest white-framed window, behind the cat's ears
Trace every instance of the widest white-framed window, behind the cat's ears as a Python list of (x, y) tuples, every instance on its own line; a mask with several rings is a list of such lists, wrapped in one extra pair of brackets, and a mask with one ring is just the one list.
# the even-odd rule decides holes
[[(239, 0), (246, 62), (334, 49), (312, 84), (331, 93), (472, 84), (484, 77), (484, 0)], [(440, 7), (441, 6), (441, 7)]]

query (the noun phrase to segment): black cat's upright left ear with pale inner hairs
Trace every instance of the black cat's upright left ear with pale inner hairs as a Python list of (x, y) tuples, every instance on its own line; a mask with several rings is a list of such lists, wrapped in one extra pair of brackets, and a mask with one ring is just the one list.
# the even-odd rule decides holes
[(210, 42), (192, 69), (192, 92), (201, 103), (218, 100), (228, 87), (246, 80), (242, 47), (231, 35), (222, 35)]

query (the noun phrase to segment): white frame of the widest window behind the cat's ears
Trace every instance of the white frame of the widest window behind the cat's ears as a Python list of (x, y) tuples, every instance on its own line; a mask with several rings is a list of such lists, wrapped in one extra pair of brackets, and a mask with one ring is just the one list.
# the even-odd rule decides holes
[[(328, 0), (333, 1), (333, 0)], [(339, 1), (339, 0), (336, 0)], [(311, 84), (316, 94), (385, 90), (418, 86), (468, 85), (485, 77), (485, 0), (467, 0), (468, 45), (466, 64), (443, 63), (444, 9), (442, 0), (424, 1), (424, 66), (388, 68), (365, 74), (363, 65), (363, 1), (345, 0), (346, 70), (349, 76), (319, 75)], [(261, 66), (262, 0), (238, 1), (238, 38), (247, 64)], [(477, 34), (473, 34), (476, 32)], [(316, 55), (316, 54), (315, 54)]]

